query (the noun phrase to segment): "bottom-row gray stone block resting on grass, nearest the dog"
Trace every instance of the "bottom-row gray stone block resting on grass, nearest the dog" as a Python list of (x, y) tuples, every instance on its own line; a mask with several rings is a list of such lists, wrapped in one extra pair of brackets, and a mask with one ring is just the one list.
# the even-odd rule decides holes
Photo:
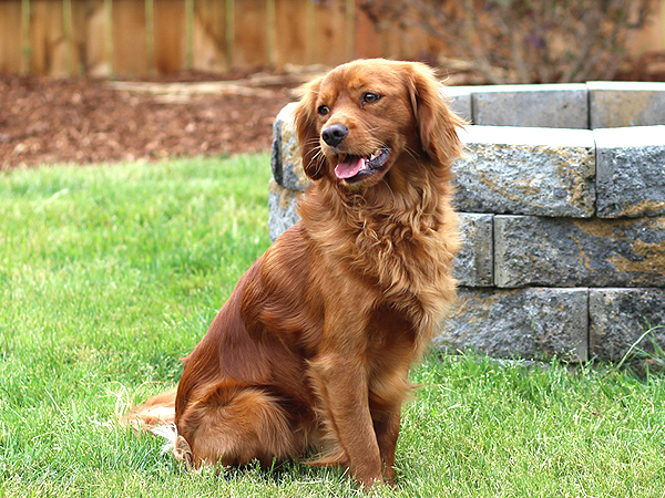
[(587, 289), (460, 288), (434, 344), (490, 356), (584, 361), (587, 322)]

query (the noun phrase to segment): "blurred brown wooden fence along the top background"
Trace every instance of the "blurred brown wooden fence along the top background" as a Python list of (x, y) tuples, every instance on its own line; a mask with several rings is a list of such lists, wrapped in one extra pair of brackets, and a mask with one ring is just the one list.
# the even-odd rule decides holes
[[(642, 38), (665, 50), (665, 0)], [(424, 33), (378, 33), (355, 0), (0, 0), (0, 72), (142, 76), (422, 58)]]

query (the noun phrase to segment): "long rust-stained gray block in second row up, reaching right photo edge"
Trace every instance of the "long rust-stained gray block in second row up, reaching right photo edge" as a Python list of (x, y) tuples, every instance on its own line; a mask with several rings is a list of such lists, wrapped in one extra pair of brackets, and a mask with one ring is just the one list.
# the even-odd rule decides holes
[(498, 287), (665, 287), (665, 217), (494, 217)]

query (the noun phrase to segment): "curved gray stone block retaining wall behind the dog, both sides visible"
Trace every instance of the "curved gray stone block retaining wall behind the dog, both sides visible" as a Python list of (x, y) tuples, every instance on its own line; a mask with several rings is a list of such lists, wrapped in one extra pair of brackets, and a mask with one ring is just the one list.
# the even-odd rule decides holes
[[(444, 92), (473, 125), (454, 165), (460, 301), (437, 344), (616, 360), (665, 325), (665, 83)], [(308, 184), (293, 105), (275, 122), (273, 240)]]

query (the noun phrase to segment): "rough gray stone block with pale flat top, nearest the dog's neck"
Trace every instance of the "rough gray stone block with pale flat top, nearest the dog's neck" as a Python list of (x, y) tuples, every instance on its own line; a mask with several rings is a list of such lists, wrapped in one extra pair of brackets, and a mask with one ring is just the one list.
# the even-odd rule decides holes
[(595, 144), (589, 129), (468, 126), (453, 168), (460, 211), (591, 217)]

